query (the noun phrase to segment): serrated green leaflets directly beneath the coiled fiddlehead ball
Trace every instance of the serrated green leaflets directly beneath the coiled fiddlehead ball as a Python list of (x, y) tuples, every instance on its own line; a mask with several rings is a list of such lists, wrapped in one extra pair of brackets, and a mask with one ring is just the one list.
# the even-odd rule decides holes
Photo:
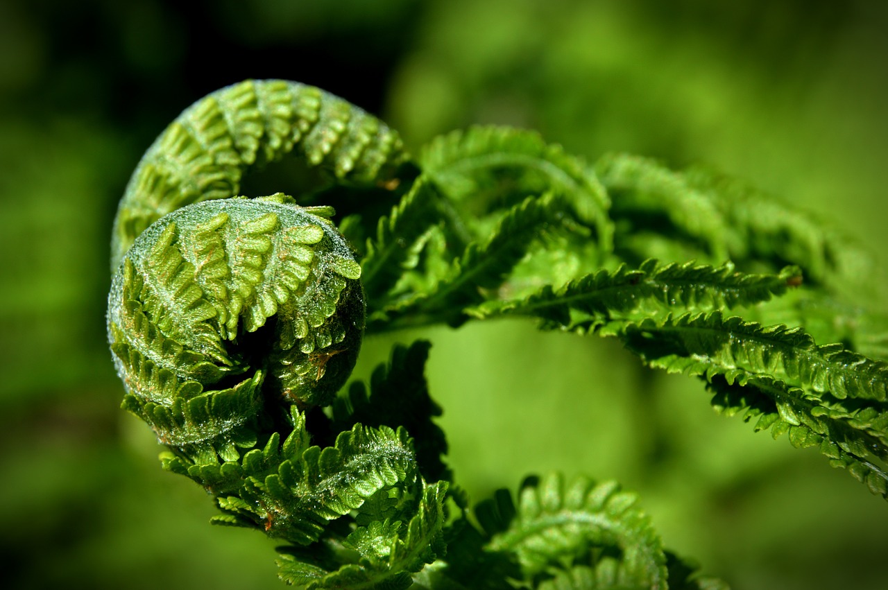
[(300, 546), (361, 508), (378, 492), (416, 480), (407, 432), (382, 427), (340, 433), (336, 444), (309, 446), (305, 414), (293, 410), (294, 429), (283, 444), (275, 432), (263, 449), (234, 460), (203, 463), (167, 457), (164, 467), (194, 479), (218, 496), (226, 513), (214, 522), (257, 528)]

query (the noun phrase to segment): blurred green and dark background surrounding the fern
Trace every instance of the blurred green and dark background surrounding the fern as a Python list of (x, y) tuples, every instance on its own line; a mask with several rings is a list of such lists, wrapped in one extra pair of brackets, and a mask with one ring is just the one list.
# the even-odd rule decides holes
[[(118, 408), (109, 229), (188, 104), (247, 77), (312, 83), (416, 150), (473, 122), (590, 159), (709, 163), (885, 260), (888, 4), (813, 0), (0, 0), (0, 555), (6, 587), (277, 588), (274, 543), (210, 527)], [(281, 187), (288, 190), (287, 187)], [(884, 588), (888, 507), (814, 450), (714, 413), (615, 342), (518, 322), (430, 338), (475, 500), (530, 472), (617, 479), (668, 547), (736, 588)], [(534, 367), (528, 370), (527, 367)], [(11, 584), (10, 584), (11, 583)]]

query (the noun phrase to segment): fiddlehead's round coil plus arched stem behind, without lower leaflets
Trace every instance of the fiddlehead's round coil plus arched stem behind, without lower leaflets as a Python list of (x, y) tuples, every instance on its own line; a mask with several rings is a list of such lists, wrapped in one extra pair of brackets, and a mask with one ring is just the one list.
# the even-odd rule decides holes
[[(281, 194), (231, 199), (246, 172), (291, 152), (357, 185), (385, 182), (406, 159), (397, 134), (340, 98), (247, 81), (180, 114), (127, 186), (108, 332), (127, 407), (154, 417), (162, 442), (204, 448), (202, 429), (240, 432), (259, 389), (301, 407), (329, 403), (351, 371), (361, 268), (329, 211)], [(204, 406), (214, 428), (195, 425)]]

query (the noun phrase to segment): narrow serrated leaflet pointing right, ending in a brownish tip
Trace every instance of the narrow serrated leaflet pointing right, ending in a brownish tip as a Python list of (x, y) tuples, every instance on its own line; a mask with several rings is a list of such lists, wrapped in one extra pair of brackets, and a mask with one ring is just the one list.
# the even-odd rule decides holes
[(474, 318), (528, 315), (551, 326), (572, 326), (577, 314), (601, 321), (669, 310), (710, 311), (761, 303), (782, 295), (799, 279), (796, 267), (776, 275), (737, 272), (733, 264), (660, 264), (646, 260), (638, 270), (622, 264), (553, 289), (547, 285), (520, 300), (491, 300), (465, 312)]

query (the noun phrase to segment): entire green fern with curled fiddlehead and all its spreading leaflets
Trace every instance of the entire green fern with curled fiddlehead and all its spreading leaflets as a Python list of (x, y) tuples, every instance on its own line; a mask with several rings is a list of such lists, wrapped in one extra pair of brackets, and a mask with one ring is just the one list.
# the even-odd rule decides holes
[[(252, 169), (289, 156), (309, 185), (240, 194)], [(215, 497), (214, 523), (287, 544), (289, 584), (724, 587), (664, 550), (617, 484), (552, 474), (517, 503), (503, 490), (470, 509), (432, 421), (427, 342), (343, 389), (365, 333), (407, 326), (526, 316), (619, 338), (888, 498), (872, 263), (709, 171), (626, 155), (590, 166), (506, 128), (411, 157), (340, 98), (248, 81), (155, 141), (113, 235), (123, 407), (166, 446), (164, 468)]]

